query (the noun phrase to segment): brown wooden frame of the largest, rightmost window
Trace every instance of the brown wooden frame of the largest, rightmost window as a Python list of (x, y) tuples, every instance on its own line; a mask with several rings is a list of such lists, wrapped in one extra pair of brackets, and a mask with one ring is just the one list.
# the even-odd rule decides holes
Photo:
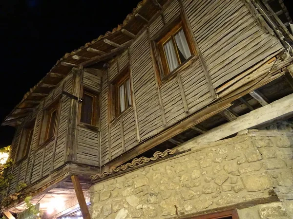
[[(176, 35), (180, 30), (184, 31), (184, 35), (186, 37), (191, 56), (188, 57), (184, 62), (181, 62), (180, 58), (178, 58), (177, 46), (173, 44), (179, 65), (177, 68), (170, 72), (165, 55), (164, 44), (167, 43), (171, 37), (171, 40), (174, 43), (173, 36)], [(193, 59), (193, 57), (197, 54), (192, 39), (192, 33), (190, 33), (189, 31), (188, 23), (186, 22), (182, 12), (179, 15), (175, 16), (172, 20), (167, 22), (164, 28), (162, 28), (162, 30), (160, 30), (150, 40), (151, 49), (156, 60), (156, 73), (159, 74), (158, 80), (160, 85), (161, 83), (164, 83), (165, 81), (168, 81), (176, 76), (177, 73), (179, 73), (182, 68), (185, 68), (190, 60)]]

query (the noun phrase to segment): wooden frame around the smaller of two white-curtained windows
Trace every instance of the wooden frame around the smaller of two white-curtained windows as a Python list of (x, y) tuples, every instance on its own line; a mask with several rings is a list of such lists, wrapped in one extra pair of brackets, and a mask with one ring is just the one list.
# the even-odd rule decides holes
[[(126, 91), (126, 81), (129, 80), (130, 85), (130, 99), (131, 104), (127, 106), (127, 91)], [(119, 97), (119, 87), (124, 84), (124, 94), (125, 94), (125, 110), (120, 111), (120, 97)], [(123, 115), (129, 108), (133, 105), (132, 90), (131, 90), (131, 80), (129, 66), (124, 67), (117, 76), (109, 82), (109, 116), (110, 122), (113, 122), (121, 115)]]

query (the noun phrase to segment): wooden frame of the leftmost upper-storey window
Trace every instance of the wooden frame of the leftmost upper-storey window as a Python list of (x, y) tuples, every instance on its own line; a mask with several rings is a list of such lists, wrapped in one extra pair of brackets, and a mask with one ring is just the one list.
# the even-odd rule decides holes
[[(23, 144), (23, 148), (20, 148), (21, 151), (19, 149), (19, 151), (17, 152), (18, 154), (21, 154), (21, 156), (20, 157), (18, 157), (18, 155), (16, 156), (16, 163), (21, 162), (22, 160), (26, 159), (28, 156), (30, 147), (34, 139), (34, 130), (35, 130), (34, 126), (35, 126), (35, 120), (24, 125), (22, 129), (20, 144)], [(30, 137), (31, 137), (31, 140), (30, 140), (30, 143), (28, 143), (28, 140)]]

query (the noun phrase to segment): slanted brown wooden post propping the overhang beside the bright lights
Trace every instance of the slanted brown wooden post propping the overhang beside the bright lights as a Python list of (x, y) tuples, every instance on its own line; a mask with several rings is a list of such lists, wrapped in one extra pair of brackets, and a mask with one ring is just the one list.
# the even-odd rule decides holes
[(78, 176), (73, 175), (71, 176), (71, 180), (74, 186), (74, 190), (75, 190), (75, 194), (78, 200), (78, 203), (80, 205), (81, 211), (82, 211), (82, 215), (84, 219), (90, 219), (90, 214), (84, 199), (84, 193), (83, 193), (83, 189), (81, 186), (81, 183), (78, 179)]

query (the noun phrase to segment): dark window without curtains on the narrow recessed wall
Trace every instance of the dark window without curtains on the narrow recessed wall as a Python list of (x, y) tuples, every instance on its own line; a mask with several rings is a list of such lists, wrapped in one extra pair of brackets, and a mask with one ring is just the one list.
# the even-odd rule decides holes
[(99, 113), (98, 94), (84, 90), (81, 110), (81, 123), (97, 125)]

